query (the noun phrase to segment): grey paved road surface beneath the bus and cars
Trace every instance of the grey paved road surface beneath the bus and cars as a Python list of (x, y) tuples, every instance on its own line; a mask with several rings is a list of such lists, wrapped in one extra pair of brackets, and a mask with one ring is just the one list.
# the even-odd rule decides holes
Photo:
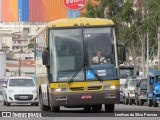
[[(39, 106), (30, 106), (28, 105), (17, 105), (13, 104), (9, 107), (4, 106), (2, 102), (0, 102), (0, 111), (40, 111)], [(148, 107), (148, 106), (136, 106), (136, 105), (123, 105), (123, 104), (116, 104), (115, 105), (115, 112), (119, 111), (160, 111), (160, 106), (157, 108), (154, 107)], [(48, 111), (49, 112), (49, 111)], [(83, 109), (81, 108), (64, 108), (61, 107), (60, 113), (83, 113)], [(104, 113), (104, 106), (102, 109), (102, 112)], [(54, 113), (56, 114), (56, 113)]]

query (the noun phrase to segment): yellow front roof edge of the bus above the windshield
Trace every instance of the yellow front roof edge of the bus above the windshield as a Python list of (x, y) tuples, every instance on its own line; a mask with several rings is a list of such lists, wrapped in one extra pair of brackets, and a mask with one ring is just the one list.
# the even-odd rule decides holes
[(114, 25), (112, 20), (102, 18), (65, 18), (59, 19), (47, 24), (47, 27), (73, 27), (73, 26), (98, 26), (98, 25)]

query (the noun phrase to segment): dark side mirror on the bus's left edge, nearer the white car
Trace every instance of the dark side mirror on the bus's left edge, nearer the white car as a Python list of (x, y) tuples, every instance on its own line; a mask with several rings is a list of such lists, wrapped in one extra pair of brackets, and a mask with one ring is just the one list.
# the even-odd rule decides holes
[(42, 63), (45, 66), (49, 65), (49, 52), (47, 49), (45, 49), (42, 53)]

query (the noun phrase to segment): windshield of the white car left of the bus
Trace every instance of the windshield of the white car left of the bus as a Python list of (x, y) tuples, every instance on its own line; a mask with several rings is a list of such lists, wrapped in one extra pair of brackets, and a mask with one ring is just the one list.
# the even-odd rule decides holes
[(9, 86), (33, 87), (35, 84), (32, 79), (10, 79)]

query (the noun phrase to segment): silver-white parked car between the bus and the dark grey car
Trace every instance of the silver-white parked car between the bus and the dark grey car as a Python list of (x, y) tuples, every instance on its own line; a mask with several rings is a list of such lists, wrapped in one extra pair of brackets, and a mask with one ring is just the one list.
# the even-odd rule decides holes
[(132, 105), (135, 103), (135, 87), (139, 83), (138, 77), (131, 77), (127, 79), (125, 84), (124, 92), (124, 104)]

